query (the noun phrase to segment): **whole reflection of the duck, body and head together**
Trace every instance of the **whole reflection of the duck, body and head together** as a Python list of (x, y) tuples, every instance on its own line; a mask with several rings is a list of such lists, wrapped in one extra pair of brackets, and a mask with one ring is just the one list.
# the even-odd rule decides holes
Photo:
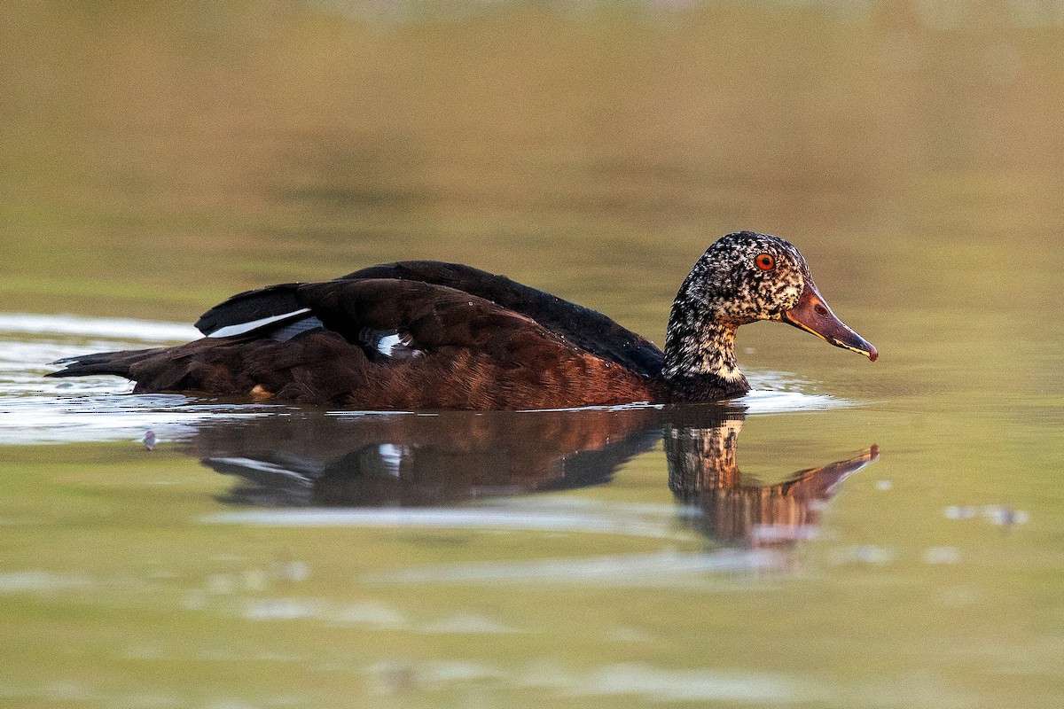
[[(728, 406), (438, 415), (309, 413), (202, 428), (189, 452), (237, 477), (223, 501), (269, 507), (416, 507), (600, 485), (663, 438), (684, 519), (728, 545), (789, 544), (876, 446), (784, 483), (744, 478), (745, 416)], [(691, 513), (694, 512), (694, 513)]]

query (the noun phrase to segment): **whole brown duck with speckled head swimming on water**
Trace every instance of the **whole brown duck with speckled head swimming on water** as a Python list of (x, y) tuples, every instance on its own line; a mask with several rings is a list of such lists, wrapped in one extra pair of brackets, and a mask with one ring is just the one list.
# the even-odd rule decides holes
[(664, 349), (609, 317), (502, 275), (433, 260), (238, 293), (176, 347), (61, 359), (48, 376), (110, 374), (134, 393), (182, 392), (358, 410), (683, 404), (750, 385), (735, 333), (783, 322), (875, 361), (788, 241), (734, 232), (695, 263)]

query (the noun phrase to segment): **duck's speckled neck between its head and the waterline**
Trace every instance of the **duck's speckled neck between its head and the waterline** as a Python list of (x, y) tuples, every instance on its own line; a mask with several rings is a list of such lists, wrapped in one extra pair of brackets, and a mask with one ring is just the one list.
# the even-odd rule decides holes
[(662, 375), (674, 400), (715, 401), (746, 393), (750, 385), (735, 362), (738, 325), (699, 313), (691, 302), (677, 298), (665, 335)]

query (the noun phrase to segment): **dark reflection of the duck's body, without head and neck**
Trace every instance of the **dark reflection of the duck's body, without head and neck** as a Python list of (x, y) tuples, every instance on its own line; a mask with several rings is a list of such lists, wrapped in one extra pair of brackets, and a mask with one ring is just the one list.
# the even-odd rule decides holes
[(661, 437), (661, 411), (268, 417), (211, 426), (192, 452), (239, 483), (225, 502), (418, 507), (609, 482)]

